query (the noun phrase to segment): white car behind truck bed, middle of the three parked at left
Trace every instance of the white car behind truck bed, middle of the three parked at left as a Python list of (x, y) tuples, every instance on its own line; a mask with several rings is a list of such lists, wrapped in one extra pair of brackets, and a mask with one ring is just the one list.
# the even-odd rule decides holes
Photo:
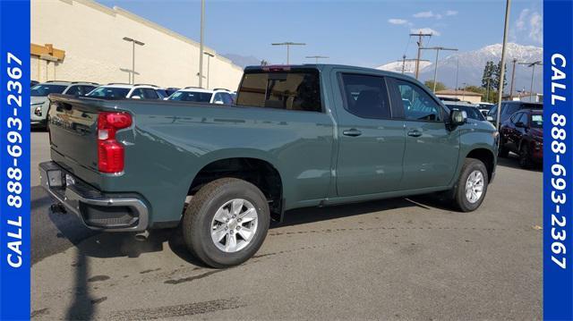
[(163, 99), (164, 95), (157, 86), (148, 84), (110, 83), (90, 91), (87, 97)]

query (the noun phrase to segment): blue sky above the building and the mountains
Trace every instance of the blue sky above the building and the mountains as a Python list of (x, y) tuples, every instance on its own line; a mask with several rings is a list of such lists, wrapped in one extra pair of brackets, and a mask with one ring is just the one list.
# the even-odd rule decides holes
[[(98, 1), (117, 5), (199, 40), (200, 1)], [(327, 55), (328, 63), (377, 66), (415, 56), (413, 30), (433, 30), (430, 46), (475, 50), (500, 43), (505, 1), (220, 1), (206, 0), (205, 43), (219, 54), (254, 55), (286, 63), (286, 48), (304, 42), (291, 63)], [(543, 45), (542, 1), (512, 1), (509, 40)]]

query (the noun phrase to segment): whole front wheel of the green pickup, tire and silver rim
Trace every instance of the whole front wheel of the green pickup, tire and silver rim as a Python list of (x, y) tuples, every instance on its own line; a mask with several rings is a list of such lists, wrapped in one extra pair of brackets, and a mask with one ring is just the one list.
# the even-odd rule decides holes
[(453, 203), (462, 212), (474, 211), (482, 205), (487, 191), (488, 175), (482, 161), (466, 158), (453, 190)]

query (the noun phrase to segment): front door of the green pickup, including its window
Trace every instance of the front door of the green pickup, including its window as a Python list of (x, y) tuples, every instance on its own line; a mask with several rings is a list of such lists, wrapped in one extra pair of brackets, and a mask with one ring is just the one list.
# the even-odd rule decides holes
[(406, 150), (403, 190), (446, 186), (458, 166), (459, 131), (449, 131), (440, 104), (422, 87), (407, 80), (392, 84), (404, 109)]

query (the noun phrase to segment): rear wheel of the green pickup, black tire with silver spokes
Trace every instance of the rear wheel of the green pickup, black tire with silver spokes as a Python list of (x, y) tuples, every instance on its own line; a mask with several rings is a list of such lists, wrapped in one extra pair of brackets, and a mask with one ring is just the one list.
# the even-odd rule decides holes
[[(236, 211), (239, 214), (234, 214), (235, 204), (239, 204), (236, 206), (240, 207)], [(254, 215), (248, 209), (254, 209)], [(253, 216), (256, 219), (252, 219)], [(228, 222), (223, 222), (222, 217)], [(243, 221), (241, 217), (244, 217)], [(244, 222), (247, 219), (251, 221)], [(218, 179), (197, 191), (186, 208), (182, 224), (185, 245), (208, 266), (237, 266), (261, 248), (269, 231), (269, 221), (269, 204), (261, 190), (235, 178)], [(217, 235), (213, 227), (220, 231)], [(224, 236), (216, 242), (214, 238), (219, 235)], [(247, 241), (243, 235), (251, 236)]]

